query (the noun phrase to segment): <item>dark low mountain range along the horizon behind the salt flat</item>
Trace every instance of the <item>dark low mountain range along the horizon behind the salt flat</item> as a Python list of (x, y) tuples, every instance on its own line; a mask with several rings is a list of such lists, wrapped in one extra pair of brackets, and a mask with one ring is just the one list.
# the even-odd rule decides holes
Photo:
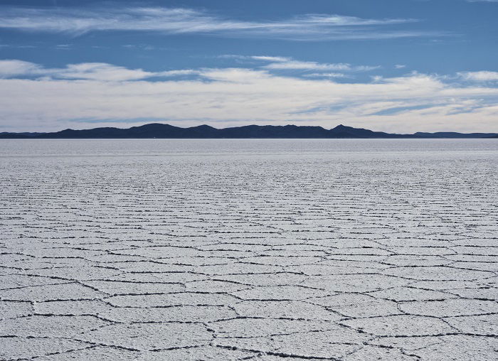
[(322, 126), (296, 125), (247, 125), (216, 129), (208, 125), (180, 128), (169, 124), (145, 124), (129, 129), (95, 128), (74, 130), (65, 129), (52, 133), (0, 133), (0, 139), (133, 139), (133, 138), (176, 138), (176, 139), (221, 139), (221, 138), (498, 138), (498, 133), (456, 133), (440, 131), (437, 133), (391, 134), (383, 131), (353, 128), (338, 125), (333, 129)]

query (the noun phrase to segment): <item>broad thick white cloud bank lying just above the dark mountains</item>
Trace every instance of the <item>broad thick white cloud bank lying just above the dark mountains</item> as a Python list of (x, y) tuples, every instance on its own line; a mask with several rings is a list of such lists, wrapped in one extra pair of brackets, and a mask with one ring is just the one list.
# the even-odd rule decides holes
[[(119, 124), (119, 119), (144, 118), (180, 126), (295, 123), (332, 127), (342, 123), (398, 132), (498, 131), (496, 87), (454, 85), (422, 74), (337, 83), (272, 75), (267, 70), (192, 71), (201, 78), (156, 82), (116, 81), (114, 76), (108, 77), (111, 80), (0, 79), (0, 131), (91, 128), (108, 126), (109, 119), (117, 126), (130, 126), (134, 124)], [(381, 114), (393, 108), (401, 111)]]

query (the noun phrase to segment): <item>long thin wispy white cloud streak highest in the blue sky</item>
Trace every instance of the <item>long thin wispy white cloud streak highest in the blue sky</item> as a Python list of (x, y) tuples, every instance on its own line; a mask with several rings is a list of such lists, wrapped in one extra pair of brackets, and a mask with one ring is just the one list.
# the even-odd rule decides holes
[(280, 38), (293, 41), (361, 40), (443, 36), (435, 31), (403, 31), (388, 26), (415, 19), (369, 19), (307, 14), (280, 21), (240, 21), (193, 9), (160, 7), (31, 9), (4, 6), (0, 28), (73, 33), (90, 31), (154, 31), (165, 34), (203, 33), (228, 37)]

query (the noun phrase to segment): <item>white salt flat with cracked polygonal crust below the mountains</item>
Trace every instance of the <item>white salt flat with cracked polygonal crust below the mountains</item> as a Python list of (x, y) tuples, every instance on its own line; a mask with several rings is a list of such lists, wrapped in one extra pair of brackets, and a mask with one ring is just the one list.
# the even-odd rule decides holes
[(1, 360), (496, 360), (498, 141), (4, 140)]

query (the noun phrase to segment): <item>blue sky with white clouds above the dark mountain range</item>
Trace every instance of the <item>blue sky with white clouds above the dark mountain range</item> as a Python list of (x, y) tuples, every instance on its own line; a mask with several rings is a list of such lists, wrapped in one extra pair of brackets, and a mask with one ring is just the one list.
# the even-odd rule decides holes
[(0, 0), (0, 132), (498, 132), (498, 0)]

